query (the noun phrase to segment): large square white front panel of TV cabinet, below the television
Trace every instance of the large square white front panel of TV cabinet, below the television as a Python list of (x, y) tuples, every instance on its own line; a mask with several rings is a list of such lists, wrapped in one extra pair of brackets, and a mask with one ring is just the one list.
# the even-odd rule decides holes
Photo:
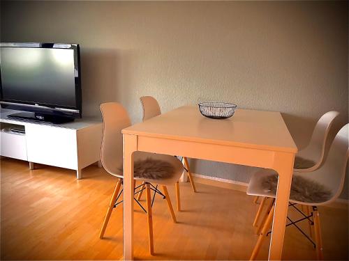
[(75, 129), (47, 125), (26, 125), (28, 161), (77, 169)]

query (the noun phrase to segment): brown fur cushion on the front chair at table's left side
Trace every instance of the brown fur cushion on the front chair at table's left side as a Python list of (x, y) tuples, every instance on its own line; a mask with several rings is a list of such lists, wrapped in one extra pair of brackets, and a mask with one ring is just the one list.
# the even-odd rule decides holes
[[(119, 168), (122, 173), (122, 167)], [(144, 180), (160, 180), (168, 179), (174, 174), (174, 166), (160, 159), (142, 159), (135, 161), (133, 165), (133, 173), (135, 177)]]

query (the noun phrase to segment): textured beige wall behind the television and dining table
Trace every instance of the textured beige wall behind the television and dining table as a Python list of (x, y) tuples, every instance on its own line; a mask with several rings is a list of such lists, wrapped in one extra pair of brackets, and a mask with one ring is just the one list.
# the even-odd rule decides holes
[[(348, 3), (1, 3), (1, 41), (77, 42), (84, 115), (121, 102), (133, 122), (139, 97), (169, 111), (200, 101), (282, 111), (302, 148), (329, 110), (348, 121)], [(250, 168), (192, 162), (195, 171), (248, 181)]]

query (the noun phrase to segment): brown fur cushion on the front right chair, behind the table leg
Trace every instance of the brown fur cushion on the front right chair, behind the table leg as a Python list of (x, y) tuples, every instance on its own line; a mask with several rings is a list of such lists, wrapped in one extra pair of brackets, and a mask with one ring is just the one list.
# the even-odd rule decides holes
[[(265, 192), (276, 194), (278, 175), (270, 175), (262, 180), (262, 187)], [(290, 199), (305, 203), (322, 203), (332, 196), (331, 191), (322, 184), (301, 176), (292, 177)]]

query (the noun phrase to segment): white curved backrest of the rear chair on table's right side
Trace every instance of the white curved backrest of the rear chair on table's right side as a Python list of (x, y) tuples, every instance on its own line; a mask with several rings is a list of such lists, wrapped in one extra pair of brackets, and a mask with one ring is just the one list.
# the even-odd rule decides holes
[(324, 159), (329, 129), (337, 116), (339, 116), (338, 111), (329, 111), (322, 115), (315, 125), (309, 144), (297, 153), (297, 156), (315, 162), (313, 170), (318, 168)]

